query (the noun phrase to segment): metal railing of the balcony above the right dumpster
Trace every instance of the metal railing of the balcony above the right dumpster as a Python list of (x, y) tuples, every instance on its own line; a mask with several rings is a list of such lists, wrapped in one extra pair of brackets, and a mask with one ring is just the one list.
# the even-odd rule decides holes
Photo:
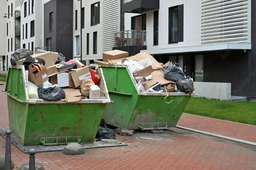
[(147, 31), (126, 30), (115, 33), (115, 47), (147, 46)]

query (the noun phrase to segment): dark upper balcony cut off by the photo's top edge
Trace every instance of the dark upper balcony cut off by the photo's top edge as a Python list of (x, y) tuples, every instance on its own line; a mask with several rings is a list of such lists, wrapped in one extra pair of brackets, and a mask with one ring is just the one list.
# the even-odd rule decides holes
[(123, 12), (142, 13), (159, 9), (159, 0), (122, 0)]

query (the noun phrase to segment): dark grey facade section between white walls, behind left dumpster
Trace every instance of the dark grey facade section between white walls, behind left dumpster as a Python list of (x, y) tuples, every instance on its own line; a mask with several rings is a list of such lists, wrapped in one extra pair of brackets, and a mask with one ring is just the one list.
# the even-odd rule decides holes
[[(57, 52), (56, 49), (56, 31), (57, 31), (57, 0), (50, 1), (49, 3), (44, 5), (44, 46), (46, 47), (46, 39), (52, 38), (52, 46), (51, 50), (53, 52)], [(49, 20), (50, 13), (53, 12), (53, 31), (49, 31)], [(59, 19), (59, 18), (58, 18)]]

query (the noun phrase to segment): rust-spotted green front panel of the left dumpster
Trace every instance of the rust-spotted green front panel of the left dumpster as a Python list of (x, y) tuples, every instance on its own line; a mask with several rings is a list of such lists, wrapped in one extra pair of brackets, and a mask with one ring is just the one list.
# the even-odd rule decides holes
[(23, 145), (41, 145), (42, 137), (83, 136), (81, 142), (93, 142), (105, 107), (106, 104), (29, 104)]

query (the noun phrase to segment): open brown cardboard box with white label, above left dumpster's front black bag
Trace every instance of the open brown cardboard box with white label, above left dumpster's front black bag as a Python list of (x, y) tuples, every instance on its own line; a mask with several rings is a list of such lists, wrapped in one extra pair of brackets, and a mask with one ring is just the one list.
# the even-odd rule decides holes
[(47, 77), (47, 72), (44, 66), (42, 66), (43, 70), (34, 74), (31, 70), (28, 71), (28, 80), (36, 86), (40, 86), (44, 82), (48, 81), (49, 78)]

